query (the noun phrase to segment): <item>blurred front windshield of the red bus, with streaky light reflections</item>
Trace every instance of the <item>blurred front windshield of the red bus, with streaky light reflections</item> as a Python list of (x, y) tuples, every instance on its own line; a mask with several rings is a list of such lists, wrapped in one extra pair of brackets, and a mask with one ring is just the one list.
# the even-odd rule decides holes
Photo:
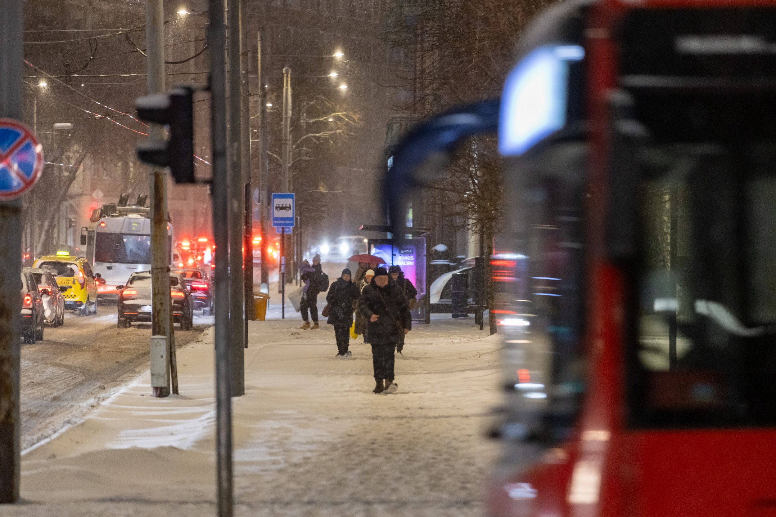
[[(510, 268), (505, 291), (494, 285), (504, 313), (508, 384), (515, 437), (553, 445), (568, 439), (584, 392), (582, 335), (584, 171), (587, 146), (556, 143), (515, 162), (508, 181), (515, 203), (508, 219), (514, 253), (491, 260)], [(526, 420), (528, 415), (528, 420)], [(510, 422), (505, 429), (509, 429)], [(508, 433), (508, 432), (507, 432)]]

